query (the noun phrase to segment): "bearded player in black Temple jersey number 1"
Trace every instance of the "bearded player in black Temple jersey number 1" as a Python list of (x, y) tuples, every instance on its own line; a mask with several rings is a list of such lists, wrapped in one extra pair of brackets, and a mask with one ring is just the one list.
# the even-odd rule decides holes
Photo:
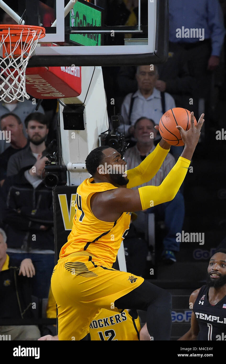
[(191, 293), (189, 307), (191, 328), (178, 340), (226, 341), (226, 249), (210, 258), (207, 284)]

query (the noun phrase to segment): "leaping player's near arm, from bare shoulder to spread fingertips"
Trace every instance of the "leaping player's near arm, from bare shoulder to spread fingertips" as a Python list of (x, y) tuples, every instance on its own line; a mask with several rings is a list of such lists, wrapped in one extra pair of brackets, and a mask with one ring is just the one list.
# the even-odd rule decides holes
[(160, 186), (144, 186), (137, 190), (125, 189), (119, 187), (114, 190), (105, 191), (98, 197), (102, 207), (107, 206), (107, 211), (122, 213), (127, 211), (146, 210), (149, 207), (159, 205), (174, 199), (182, 182), (186, 176), (190, 165), (195, 147), (197, 146), (201, 128), (203, 125), (203, 116), (201, 115), (197, 126), (194, 125), (194, 114), (191, 113), (191, 127), (188, 131), (177, 126), (181, 133), (185, 148), (179, 157), (175, 166), (168, 173)]

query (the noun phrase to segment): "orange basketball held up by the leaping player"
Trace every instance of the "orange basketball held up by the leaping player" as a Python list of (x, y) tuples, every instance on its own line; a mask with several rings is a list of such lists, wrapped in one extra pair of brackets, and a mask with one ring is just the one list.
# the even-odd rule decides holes
[[(159, 132), (161, 137), (170, 145), (184, 145), (181, 134), (176, 126), (181, 126), (184, 130), (190, 129), (191, 112), (182, 107), (175, 107), (165, 112), (159, 121)], [(194, 124), (197, 121), (194, 118)]]

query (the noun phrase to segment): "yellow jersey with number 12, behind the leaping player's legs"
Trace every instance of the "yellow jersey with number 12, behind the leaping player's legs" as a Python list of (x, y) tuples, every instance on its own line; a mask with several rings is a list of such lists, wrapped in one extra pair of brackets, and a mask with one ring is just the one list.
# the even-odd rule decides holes
[(90, 324), (91, 340), (139, 340), (139, 317), (132, 318), (127, 310), (115, 313), (102, 309)]

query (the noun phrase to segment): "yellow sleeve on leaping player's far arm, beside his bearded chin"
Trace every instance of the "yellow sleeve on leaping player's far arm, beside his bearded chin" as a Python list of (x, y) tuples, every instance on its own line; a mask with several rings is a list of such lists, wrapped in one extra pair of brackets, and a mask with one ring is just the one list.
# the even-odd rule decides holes
[(129, 180), (126, 187), (132, 188), (149, 182), (158, 172), (169, 151), (170, 149), (163, 149), (158, 144), (139, 166), (126, 172)]

